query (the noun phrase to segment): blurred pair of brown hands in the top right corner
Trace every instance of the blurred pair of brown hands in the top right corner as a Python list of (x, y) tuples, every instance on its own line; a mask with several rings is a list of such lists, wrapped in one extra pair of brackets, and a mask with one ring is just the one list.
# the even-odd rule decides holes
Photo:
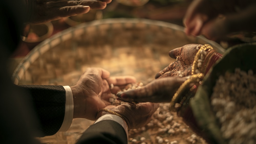
[(253, 1), (194, 0), (183, 20), (185, 32), (218, 40), (232, 32), (255, 30), (255, 8)]

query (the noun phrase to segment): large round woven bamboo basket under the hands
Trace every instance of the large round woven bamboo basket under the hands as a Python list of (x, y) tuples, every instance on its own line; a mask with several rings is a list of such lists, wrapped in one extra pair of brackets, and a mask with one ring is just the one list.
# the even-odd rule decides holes
[[(187, 36), (183, 27), (148, 19), (103, 19), (68, 28), (37, 45), (15, 69), (17, 85), (74, 85), (88, 67), (101, 67), (111, 76), (133, 75), (144, 84), (175, 61), (174, 48), (190, 43), (217, 43), (204, 37)], [(73, 120), (67, 132), (41, 139), (45, 143), (72, 143), (92, 124)], [(58, 141), (58, 142), (56, 142)], [(68, 141), (68, 142), (67, 142)], [(71, 141), (71, 142), (70, 142)]]

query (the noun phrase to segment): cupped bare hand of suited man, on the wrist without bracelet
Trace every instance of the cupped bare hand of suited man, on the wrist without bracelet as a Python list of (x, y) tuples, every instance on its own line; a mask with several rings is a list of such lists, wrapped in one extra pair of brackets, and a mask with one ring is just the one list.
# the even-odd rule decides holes
[[(110, 73), (101, 68), (88, 68), (76, 85), (71, 86), (74, 103), (73, 118), (95, 120), (99, 109), (111, 103), (109, 98), (123, 85), (134, 83), (132, 76), (109, 77)], [(113, 84), (114, 88), (110, 89)]]

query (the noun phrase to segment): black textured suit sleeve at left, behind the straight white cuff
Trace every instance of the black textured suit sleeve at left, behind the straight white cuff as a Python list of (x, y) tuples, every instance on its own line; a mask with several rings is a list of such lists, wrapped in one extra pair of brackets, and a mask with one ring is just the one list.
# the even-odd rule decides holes
[(61, 85), (20, 85), (33, 100), (42, 136), (54, 135), (65, 115), (66, 91)]

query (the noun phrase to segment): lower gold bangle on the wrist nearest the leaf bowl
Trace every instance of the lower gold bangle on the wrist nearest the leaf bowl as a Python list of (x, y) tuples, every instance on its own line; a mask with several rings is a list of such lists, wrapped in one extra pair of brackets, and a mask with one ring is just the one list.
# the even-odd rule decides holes
[[(181, 95), (186, 95), (185, 93), (187, 92), (185, 90), (189, 87), (191, 83), (200, 83), (200, 81), (204, 78), (204, 76), (205, 75), (203, 73), (194, 74), (194, 75), (191, 75), (191, 77), (187, 79), (184, 83), (182, 83), (182, 85), (180, 85), (180, 87), (178, 88), (178, 90), (176, 91), (176, 93), (172, 98), (170, 109), (175, 111), (176, 107), (177, 108), (180, 107), (182, 104), (177, 102), (178, 98), (180, 98)], [(193, 90), (193, 88), (191, 90)]]

